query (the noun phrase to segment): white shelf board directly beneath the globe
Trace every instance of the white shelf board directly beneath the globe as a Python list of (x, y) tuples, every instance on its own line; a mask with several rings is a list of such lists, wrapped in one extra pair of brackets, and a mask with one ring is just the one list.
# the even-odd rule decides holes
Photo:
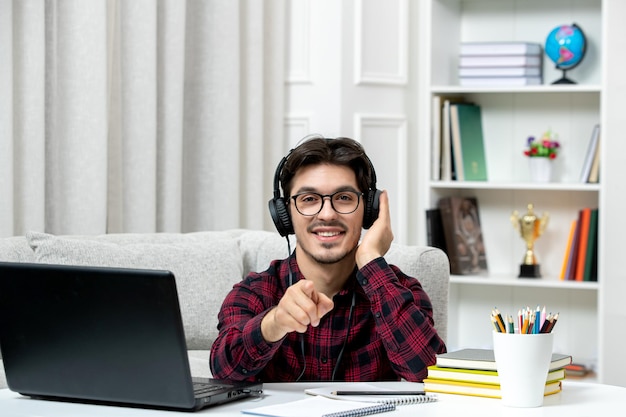
[(460, 85), (435, 85), (431, 87), (433, 94), (471, 94), (471, 93), (600, 93), (602, 87), (598, 84), (584, 85), (535, 85), (535, 86), (493, 86), (493, 87), (465, 87)]

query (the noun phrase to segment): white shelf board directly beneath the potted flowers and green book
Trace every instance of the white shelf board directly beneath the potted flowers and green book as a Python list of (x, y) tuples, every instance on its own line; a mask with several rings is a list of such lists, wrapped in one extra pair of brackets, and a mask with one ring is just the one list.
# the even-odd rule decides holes
[(535, 190), (535, 191), (589, 191), (597, 192), (600, 184), (563, 182), (495, 182), (495, 181), (431, 181), (433, 189), (473, 189), (473, 190)]

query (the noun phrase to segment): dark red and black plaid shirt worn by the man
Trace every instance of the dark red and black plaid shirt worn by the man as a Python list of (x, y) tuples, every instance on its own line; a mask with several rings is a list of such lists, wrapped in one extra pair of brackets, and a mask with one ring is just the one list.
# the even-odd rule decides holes
[[(328, 381), (345, 342), (335, 380), (421, 381), (426, 367), (435, 363), (435, 354), (445, 352), (421, 284), (384, 258), (355, 269), (318, 327), (266, 342), (261, 320), (289, 286), (288, 262), (293, 281), (304, 279), (295, 257), (276, 260), (266, 271), (250, 273), (227, 295), (218, 315), (219, 336), (211, 347), (215, 378), (295, 381), (306, 363), (300, 380)], [(353, 293), (356, 303), (346, 334)]]

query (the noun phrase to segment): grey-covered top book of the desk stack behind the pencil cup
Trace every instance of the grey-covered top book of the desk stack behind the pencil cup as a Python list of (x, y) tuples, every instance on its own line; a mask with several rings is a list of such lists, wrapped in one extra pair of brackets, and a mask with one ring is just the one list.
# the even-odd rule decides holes
[[(571, 355), (553, 353), (549, 371), (563, 368), (572, 363)], [(478, 369), (497, 371), (493, 349), (465, 348), (437, 355), (435, 365), (443, 368)]]

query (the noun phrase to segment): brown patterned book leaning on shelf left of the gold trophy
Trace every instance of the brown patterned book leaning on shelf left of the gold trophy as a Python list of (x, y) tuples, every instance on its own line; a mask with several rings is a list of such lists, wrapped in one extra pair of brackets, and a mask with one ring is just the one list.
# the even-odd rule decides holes
[(443, 197), (437, 202), (446, 240), (450, 273), (480, 274), (487, 271), (487, 254), (475, 197)]

